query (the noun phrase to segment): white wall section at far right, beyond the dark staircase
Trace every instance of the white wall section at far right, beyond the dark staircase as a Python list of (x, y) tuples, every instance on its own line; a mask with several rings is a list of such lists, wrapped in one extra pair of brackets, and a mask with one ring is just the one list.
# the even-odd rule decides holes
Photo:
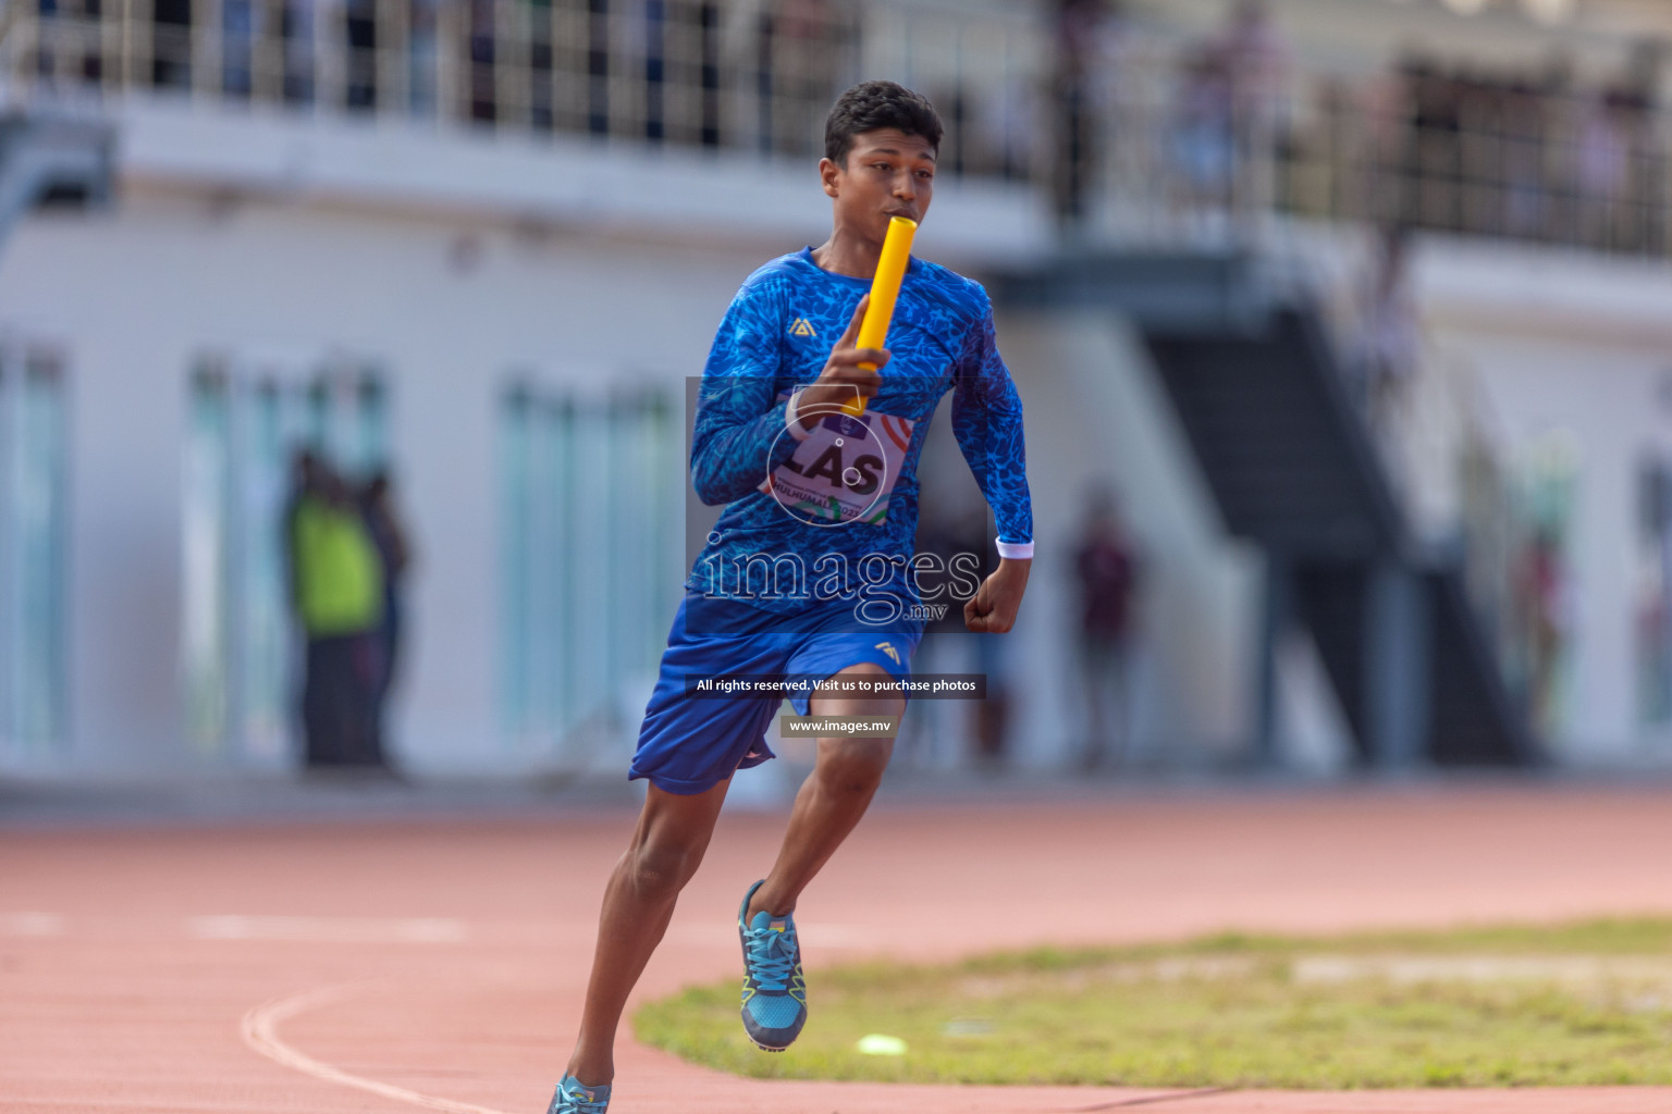
[(1570, 701), (1563, 758), (1672, 753), (1639, 723), (1634, 641), (1635, 489), (1649, 451), (1672, 451), (1672, 267), (1425, 239), (1416, 287), (1440, 374), (1465, 376), (1506, 461), (1565, 436), (1577, 456)]

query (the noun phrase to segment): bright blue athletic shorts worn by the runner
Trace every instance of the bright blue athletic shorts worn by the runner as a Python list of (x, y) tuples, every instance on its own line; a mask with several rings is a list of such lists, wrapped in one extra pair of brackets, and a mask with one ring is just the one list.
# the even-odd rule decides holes
[[(818, 681), (869, 661), (906, 680), (921, 640), (921, 625), (856, 633), (851, 601), (836, 601), (824, 613), (814, 608), (782, 616), (736, 600), (686, 593), (667, 635), (627, 778), (650, 778), (669, 793), (702, 793), (732, 772), (774, 757), (766, 732), (784, 701), (781, 695), (692, 696), (687, 678), (694, 683), (702, 676), (749, 673)], [(791, 705), (798, 715), (808, 715), (806, 693), (791, 696)]]

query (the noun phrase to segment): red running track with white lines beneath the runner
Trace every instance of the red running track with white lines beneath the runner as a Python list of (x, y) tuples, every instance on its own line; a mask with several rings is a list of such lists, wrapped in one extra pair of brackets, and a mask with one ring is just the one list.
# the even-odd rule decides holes
[[(0, 1111), (540, 1114), (622, 810), (0, 833)], [(642, 995), (736, 975), (779, 817), (726, 815)], [(818, 969), (1219, 929), (1672, 914), (1672, 788), (879, 807), (806, 895)], [(624, 1042), (619, 1114), (1672, 1112), (1672, 1089), (1180, 1092), (742, 1081)], [(1159, 1101), (1157, 1101), (1159, 1099)]]

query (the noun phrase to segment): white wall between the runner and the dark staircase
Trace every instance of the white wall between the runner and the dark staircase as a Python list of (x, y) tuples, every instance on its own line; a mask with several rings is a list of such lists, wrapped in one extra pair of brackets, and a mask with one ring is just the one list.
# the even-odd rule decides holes
[(1192, 763), (1251, 740), (1257, 556), (1232, 544), (1139, 337), (1112, 312), (1008, 314), (1000, 347), (1027, 414), (1035, 575), (1012, 668), (1023, 762), (1062, 762), (1080, 730), (1073, 544), (1107, 483), (1142, 553), (1134, 757)]

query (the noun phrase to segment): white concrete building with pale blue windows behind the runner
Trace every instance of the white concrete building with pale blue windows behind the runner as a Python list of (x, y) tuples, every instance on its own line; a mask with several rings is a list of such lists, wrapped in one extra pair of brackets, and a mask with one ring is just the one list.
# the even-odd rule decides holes
[[(232, 3), (211, 7), (226, 17)], [(385, 7), (380, 25), (406, 27), (411, 45), (393, 62), (371, 52), (371, 70), (344, 45), (354, 32), (331, 22), (358, 8), (323, 8), (306, 40), (257, 27), (239, 45), (209, 32), (226, 22), (207, 8), (187, 5), (182, 22), (159, 3), (144, 57), (99, 38), (114, 15), (12, 13), (10, 104), (109, 120), (119, 194), (104, 209), (35, 212), (0, 249), (7, 772), (294, 763), (276, 531), (288, 453), (306, 438), (348, 468), (388, 463), (415, 534), (396, 757), (416, 773), (622, 765), (682, 575), (684, 379), (737, 282), (828, 230), (808, 140), (786, 139), (784, 120), (863, 73), (916, 84), (943, 109), (941, 94), (963, 89), (998, 129), (1027, 107), (1048, 53), (1047, 28), (1010, 5), (869, 5), (803, 104), (781, 92), (788, 47), (769, 75), (777, 100), (747, 62), (767, 5), (670, 5), (679, 15), (660, 30), (619, 5), (599, 63), (575, 38), (585, 27), (562, 23), (587, 5), (530, 8), (550, 20), (530, 30), (517, 20), (535, 17), (502, 3), (500, 30), (523, 30), (487, 68), (468, 12)], [(1274, 7), (1321, 70), (1379, 63), (1393, 32), (1308, 13), (1374, 7), (1435, 40), (1461, 18), (1436, 5)], [(709, 8), (719, 30), (704, 38)], [(440, 12), (440, 38), (418, 33), (425, 10)], [(1219, 18), (1209, 5), (1167, 12), (1145, 17), (1157, 43)], [(1523, 58), (1560, 33), (1513, 27)], [(1583, 27), (1588, 65), (1624, 57), (1624, 33)], [(545, 47), (555, 60), (540, 60)], [(667, 77), (649, 77), (652, 55)], [(410, 67), (425, 60), (420, 80)], [(724, 77), (709, 84), (704, 67)], [(660, 139), (644, 132), (652, 119)], [(965, 155), (991, 170), (1003, 144), (976, 134), (961, 134)], [(1045, 140), (1027, 125), (1023, 137)], [(1047, 189), (943, 179), (920, 254), (980, 277), (1057, 249)], [(1112, 189), (1124, 180), (1110, 170)], [(1124, 200), (1088, 235), (1119, 246)], [(1313, 259), (1324, 284), (1353, 272), (1356, 234), (1309, 235), (1266, 242)], [(1301, 252), (1302, 241), (1333, 247)], [(1649, 668), (1639, 628), (1655, 544), (1634, 499), (1644, 461), (1672, 459), (1672, 266), (1430, 234), (1415, 289), (1428, 374), (1473, 384), (1505, 461), (1567, 469), (1553, 481), (1568, 484), (1572, 566), (1553, 750), (1575, 763), (1662, 758), (1672, 722), (1645, 710), (1634, 680)], [(1028, 413), (1040, 543), (1007, 651), (1015, 760), (1055, 765), (1080, 730), (1062, 554), (1090, 481), (1119, 489), (1149, 568), (1135, 755), (1236, 753), (1251, 730), (1259, 554), (1224, 538), (1142, 349), (1114, 314), (1085, 312), (1002, 314), (1000, 342)], [(1450, 469), (1428, 471), (1440, 478), (1421, 498), (1455, 513)], [(1331, 768), (1343, 728), (1328, 686), (1304, 653), (1286, 668), (1291, 750)], [(965, 730), (956, 717), (941, 727)]]

